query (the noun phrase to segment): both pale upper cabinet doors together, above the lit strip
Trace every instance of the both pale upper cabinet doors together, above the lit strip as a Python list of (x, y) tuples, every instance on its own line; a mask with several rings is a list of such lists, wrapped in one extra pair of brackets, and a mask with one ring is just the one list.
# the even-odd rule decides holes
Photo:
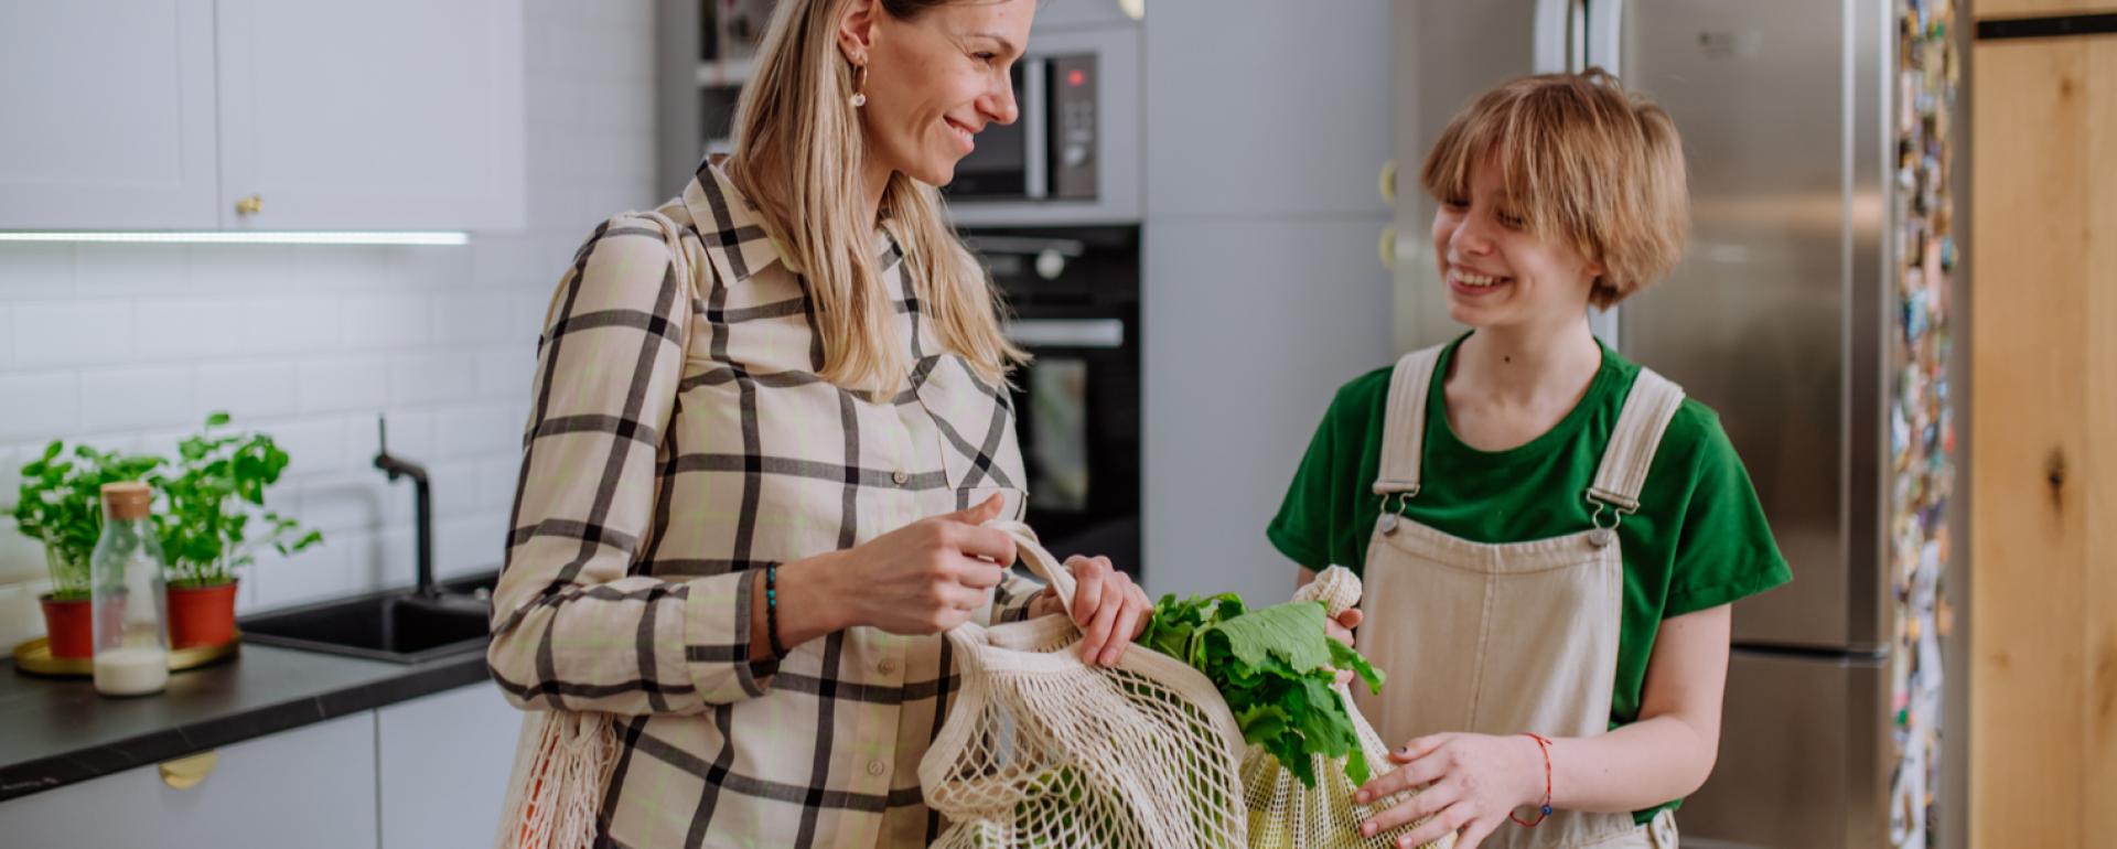
[(523, 78), (523, 0), (6, 4), (0, 229), (519, 229)]

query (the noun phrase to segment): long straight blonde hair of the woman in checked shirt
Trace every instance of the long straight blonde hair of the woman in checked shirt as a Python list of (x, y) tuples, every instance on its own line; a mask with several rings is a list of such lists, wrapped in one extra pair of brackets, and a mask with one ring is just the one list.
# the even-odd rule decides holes
[[(809, 277), (824, 337), (824, 379), (887, 392), (910, 373), (891, 292), (876, 267), (870, 222), (860, 205), (866, 150), (853, 95), (853, 66), (838, 51), (838, 19), (849, 0), (781, 0), (773, 11), (758, 70), (735, 106), (737, 188), (779, 231), (781, 246)], [(883, 0), (912, 19), (948, 0)], [(940, 193), (904, 174), (883, 188), (885, 227), (904, 248), (904, 273), (940, 343), (995, 385), (1025, 362), (999, 330), (999, 301), (984, 271), (942, 218)]]

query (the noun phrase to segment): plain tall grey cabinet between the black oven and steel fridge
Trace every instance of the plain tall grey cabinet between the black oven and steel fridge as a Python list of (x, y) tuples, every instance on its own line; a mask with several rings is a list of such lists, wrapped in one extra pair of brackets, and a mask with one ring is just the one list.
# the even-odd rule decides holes
[(1387, 0), (1145, 17), (1145, 582), (1283, 601), (1264, 540), (1332, 392), (1391, 360)]

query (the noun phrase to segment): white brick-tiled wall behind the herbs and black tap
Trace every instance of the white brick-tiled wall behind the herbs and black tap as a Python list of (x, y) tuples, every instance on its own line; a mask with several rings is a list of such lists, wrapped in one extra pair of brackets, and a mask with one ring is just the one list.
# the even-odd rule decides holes
[[(466, 248), (0, 246), (0, 504), (51, 438), (174, 453), (214, 409), (273, 434), (269, 500), (324, 529), (241, 606), (411, 582), (411, 483), (434, 474), (436, 572), (500, 563), (544, 303), (574, 248), (654, 184), (652, 0), (527, 0), (523, 233)], [(42, 550), (0, 521), (0, 648), (42, 631)]]

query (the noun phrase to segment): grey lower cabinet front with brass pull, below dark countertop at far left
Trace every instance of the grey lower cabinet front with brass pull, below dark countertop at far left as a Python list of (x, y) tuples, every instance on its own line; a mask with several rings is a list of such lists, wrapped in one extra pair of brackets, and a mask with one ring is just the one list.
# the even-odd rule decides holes
[[(11, 847), (375, 849), (375, 713), (216, 752), (197, 785), (161, 766), (0, 805)], [(487, 841), (491, 834), (487, 834)]]

